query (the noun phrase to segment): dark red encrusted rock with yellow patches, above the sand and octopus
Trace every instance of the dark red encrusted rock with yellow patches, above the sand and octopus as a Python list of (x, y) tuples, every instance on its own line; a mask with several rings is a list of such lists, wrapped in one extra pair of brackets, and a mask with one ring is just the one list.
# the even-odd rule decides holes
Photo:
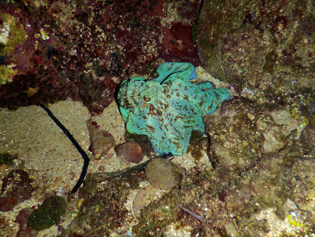
[(190, 35), (199, 7), (199, 0), (2, 2), (0, 107), (71, 97), (99, 114), (131, 74), (160, 60), (199, 65)]

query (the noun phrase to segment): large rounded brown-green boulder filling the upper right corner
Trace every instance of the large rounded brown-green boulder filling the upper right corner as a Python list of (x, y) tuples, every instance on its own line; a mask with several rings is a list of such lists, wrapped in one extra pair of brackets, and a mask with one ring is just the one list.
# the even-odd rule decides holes
[(309, 99), (313, 29), (309, 0), (204, 1), (197, 31), (202, 67), (260, 103), (292, 103), (286, 95), (296, 93)]

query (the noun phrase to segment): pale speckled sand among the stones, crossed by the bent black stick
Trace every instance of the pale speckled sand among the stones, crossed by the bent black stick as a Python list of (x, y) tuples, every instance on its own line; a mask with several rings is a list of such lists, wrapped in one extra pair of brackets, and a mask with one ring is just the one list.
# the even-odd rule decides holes
[[(201, 76), (202, 72), (199, 74)], [(81, 102), (66, 100), (49, 104), (48, 107), (90, 157), (88, 172), (111, 172), (130, 166), (117, 157), (114, 149), (111, 149), (100, 160), (94, 160), (92, 153), (88, 151), (90, 137), (86, 126), (86, 122), (91, 116)], [(115, 137), (116, 144), (125, 142), (125, 124), (115, 101), (104, 109), (101, 115), (92, 117), (92, 119), (97, 121), (101, 129), (108, 130)], [(0, 212), (0, 218), (4, 222), (3, 228), (1, 227), (2, 233), (7, 236), (15, 236), (20, 227), (15, 222), (15, 217), (20, 210), (41, 205), (45, 198), (54, 194), (67, 198), (80, 176), (83, 158), (68, 137), (39, 106), (20, 107), (15, 111), (0, 109), (0, 121), (0, 153), (18, 156), (15, 159), (15, 165), (0, 167), (0, 187), (3, 177), (13, 169), (27, 171), (33, 180), (32, 186), (36, 187), (29, 200), (16, 205), (12, 211)], [(144, 161), (147, 159), (144, 157)], [(207, 154), (204, 154), (204, 157), (197, 161), (198, 163), (195, 163), (195, 159), (191, 158), (190, 154), (183, 157), (176, 156), (172, 161), (180, 163), (184, 168), (192, 168), (195, 165), (211, 166)], [(68, 203), (61, 226), (66, 227), (71, 223), (76, 215), (77, 202), (78, 195), (76, 194), (75, 200)], [(132, 201), (129, 202), (129, 205), (132, 205)], [(132, 208), (129, 207), (129, 209)], [(38, 233), (39, 236), (57, 236), (60, 231), (57, 230), (57, 226), (52, 226), (50, 229)]]

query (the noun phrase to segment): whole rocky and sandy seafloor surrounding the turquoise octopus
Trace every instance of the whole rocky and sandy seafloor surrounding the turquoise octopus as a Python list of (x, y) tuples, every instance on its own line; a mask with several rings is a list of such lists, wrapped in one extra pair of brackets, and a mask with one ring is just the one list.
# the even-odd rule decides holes
[[(311, 1), (123, 2), (1, 2), (0, 236), (315, 236)], [(165, 61), (232, 98), (160, 161), (115, 91)]]

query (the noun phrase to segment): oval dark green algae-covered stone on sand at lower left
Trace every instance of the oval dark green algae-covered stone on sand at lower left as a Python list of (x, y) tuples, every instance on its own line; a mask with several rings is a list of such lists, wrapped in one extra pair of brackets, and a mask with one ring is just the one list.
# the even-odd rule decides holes
[(38, 209), (29, 216), (28, 226), (41, 231), (48, 229), (66, 212), (66, 200), (61, 196), (46, 199)]

